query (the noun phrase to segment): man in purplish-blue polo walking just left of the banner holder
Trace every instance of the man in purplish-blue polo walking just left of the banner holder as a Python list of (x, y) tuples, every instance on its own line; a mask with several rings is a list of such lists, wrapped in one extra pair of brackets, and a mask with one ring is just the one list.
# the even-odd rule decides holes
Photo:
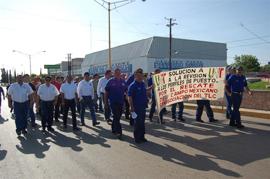
[(125, 93), (128, 93), (126, 81), (121, 78), (121, 70), (113, 70), (113, 78), (110, 78), (105, 86), (105, 107), (110, 107), (112, 113), (111, 131), (117, 134), (118, 139), (122, 138), (122, 127), (120, 118), (124, 105)]

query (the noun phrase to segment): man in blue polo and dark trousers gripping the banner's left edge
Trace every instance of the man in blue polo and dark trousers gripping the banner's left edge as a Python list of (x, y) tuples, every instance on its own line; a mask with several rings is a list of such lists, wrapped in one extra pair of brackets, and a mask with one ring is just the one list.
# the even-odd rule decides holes
[(135, 81), (131, 83), (128, 90), (128, 98), (130, 104), (130, 112), (135, 112), (134, 138), (136, 143), (141, 141), (147, 142), (144, 137), (145, 134), (145, 109), (148, 107), (147, 94), (144, 82), (142, 82), (142, 72), (136, 71), (134, 73)]

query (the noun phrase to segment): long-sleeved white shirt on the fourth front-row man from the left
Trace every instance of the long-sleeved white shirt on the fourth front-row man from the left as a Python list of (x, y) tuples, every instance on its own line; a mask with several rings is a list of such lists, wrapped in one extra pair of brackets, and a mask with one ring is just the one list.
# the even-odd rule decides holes
[(82, 99), (82, 96), (91, 96), (92, 99), (95, 99), (94, 95), (94, 88), (93, 88), (93, 83), (91, 81), (85, 81), (83, 79), (79, 84), (78, 84), (78, 97), (80, 100)]

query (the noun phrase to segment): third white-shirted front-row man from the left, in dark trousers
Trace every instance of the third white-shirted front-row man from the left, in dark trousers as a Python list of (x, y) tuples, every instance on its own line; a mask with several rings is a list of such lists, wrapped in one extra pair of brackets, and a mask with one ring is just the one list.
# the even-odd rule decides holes
[(64, 107), (64, 116), (63, 116), (63, 122), (64, 122), (64, 128), (67, 128), (67, 116), (69, 108), (71, 108), (71, 114), (72, 114), (72, 126), (74, 130), (80, 130), (80, 128), (77, 127), (77, 119), (76, 119), (76, 102), (75, 97), (77, 101), (77, 105), (79, 103), (78, 94), (77, 94), (77, 85), (72, 83), (72, 76), (67, 75), (66, 77), (67, 82), (61, 85), (60, 93), (62, 96), (62, 106)]

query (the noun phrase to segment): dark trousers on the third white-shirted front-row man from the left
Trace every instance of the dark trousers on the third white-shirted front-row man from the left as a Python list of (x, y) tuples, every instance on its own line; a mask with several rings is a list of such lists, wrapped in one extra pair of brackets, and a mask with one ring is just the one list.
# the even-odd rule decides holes
[(71, 108), (72, 126), (73, 126), (73, 128), (76, 128), (77, 127), (77, 119), (76, 119), (76, 103), (75, 103), (75, 100), (66, 100), (65, 99), (63, 123), (67, 124), (67, 116), (68, 116), (69, 108)]

